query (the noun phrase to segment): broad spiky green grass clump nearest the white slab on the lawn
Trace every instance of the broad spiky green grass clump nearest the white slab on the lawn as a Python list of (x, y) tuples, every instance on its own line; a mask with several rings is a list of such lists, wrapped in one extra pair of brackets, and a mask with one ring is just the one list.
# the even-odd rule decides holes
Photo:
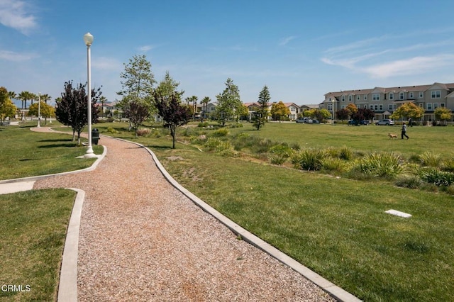
[(356, 162), (355, 170), (372, 177), (395, 178), (402, 173), (401, 158), (394, 153), (371, 153)]

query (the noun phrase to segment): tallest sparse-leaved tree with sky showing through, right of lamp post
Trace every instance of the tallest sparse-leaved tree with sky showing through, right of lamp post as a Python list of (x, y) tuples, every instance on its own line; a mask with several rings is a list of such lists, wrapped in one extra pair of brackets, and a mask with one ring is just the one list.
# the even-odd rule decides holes
[(134, 55), (128, 64), (123, 63), (123, 65), (125, 69), (120, 74), (122, 89), (117, 92), (122, 99), (118, 106), (124, 108), (131, 101), (138, 101), (151, 107), (155, 84), (151, 63), (145, 55)]

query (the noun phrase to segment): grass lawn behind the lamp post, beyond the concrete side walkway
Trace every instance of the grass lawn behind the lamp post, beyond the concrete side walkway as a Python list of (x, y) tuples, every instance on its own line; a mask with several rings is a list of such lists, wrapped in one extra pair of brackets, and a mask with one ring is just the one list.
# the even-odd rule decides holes
[[(84, 169), (96, 159), (77, 159), (87, 147), (77, 147), (72, 136), (59, 133), (36, 133), (30, 128), (0, 128), (0, 180)], [(94, 146), (96, 154), (101, 146)]]

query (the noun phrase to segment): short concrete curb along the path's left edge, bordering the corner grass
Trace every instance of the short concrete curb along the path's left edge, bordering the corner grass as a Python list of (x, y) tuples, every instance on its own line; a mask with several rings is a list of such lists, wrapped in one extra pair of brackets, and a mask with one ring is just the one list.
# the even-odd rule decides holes
[(66, 188), (77, 192), (63, 250), (60, 283), (57, 301), (77, 302), (77, 255), (79, 252), (79, 228), (85, 192), (80, 189)]

